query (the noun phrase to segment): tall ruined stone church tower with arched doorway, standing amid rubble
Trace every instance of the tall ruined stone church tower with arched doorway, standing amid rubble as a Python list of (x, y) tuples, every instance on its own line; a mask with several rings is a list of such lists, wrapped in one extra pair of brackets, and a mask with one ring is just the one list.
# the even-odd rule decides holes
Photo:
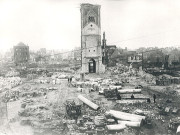
[(81, 4), (81, 66), (83, 73), (103, 73), (100, 5)]

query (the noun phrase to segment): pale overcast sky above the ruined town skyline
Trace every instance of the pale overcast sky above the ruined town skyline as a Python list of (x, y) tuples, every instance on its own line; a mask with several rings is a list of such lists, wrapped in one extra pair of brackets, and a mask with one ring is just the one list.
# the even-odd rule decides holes
[(0, 49), (80, 47), (80, 3), (101, 5), (107, 44), (180, 46), (180, 0), (0, 0)]

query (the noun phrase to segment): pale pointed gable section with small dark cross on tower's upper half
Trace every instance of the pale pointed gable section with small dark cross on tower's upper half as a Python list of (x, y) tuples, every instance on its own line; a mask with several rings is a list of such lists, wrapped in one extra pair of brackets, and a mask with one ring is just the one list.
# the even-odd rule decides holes
[(100, 34), (100, 29), (97, 27), (96, 24), (94, 23), (89, 23), (86, 25), (83, 29), (83, 35), (99, 35)]

